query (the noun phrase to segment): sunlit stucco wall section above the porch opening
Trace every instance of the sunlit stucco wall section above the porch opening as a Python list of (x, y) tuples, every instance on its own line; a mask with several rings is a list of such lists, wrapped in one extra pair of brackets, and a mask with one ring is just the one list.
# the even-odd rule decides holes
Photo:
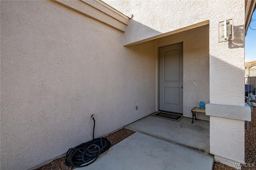
[(205, 10), (210, 10), (208, 0), (103, 1), (126, 16), (133, 15), (124, 33), (124, 45), (208, 20)]

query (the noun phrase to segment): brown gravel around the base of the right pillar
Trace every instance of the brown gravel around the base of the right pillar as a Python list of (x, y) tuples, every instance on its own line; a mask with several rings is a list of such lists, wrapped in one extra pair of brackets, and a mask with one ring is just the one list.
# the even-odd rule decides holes
[[(245, 162), (256, 163), (256, 107), (253, 108), (252, 121), (249, 122), (249, 129), (246, 129), (246, 122), (244, 123), (244, 148), (245, 148)], [(220, 162), (214, 162), (213, 170), (235, 170)], [(242, 167), (242, 170), (256, 170), (254, 167)]]

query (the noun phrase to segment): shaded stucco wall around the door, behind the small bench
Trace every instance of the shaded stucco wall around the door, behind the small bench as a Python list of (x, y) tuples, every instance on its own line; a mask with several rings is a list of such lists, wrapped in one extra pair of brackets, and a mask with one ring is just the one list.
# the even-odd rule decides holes
[[(183, 115), (192, 117), (191, 109), (210, 101), (209, 25), (156, 39), (156, 48), (178, 42), (183, 42)], [(197, 118), (209, 121), (205, 114)]]

